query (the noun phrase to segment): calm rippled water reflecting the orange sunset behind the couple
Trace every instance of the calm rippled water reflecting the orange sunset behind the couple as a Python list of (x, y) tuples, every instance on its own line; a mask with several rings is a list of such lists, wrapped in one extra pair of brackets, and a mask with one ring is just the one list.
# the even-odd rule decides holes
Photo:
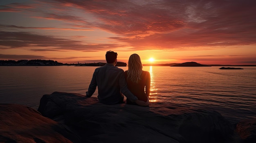
[[(40, 98), (54, 91), (85, 95), (92, 73), (87, 66), (0, 66), (0, 103), (37, 109)], [(124, 70), (127, 67), (119, 67)], [(144, 66), (151, 74), (151, 102), (207, 108), (234, 121), (256, 117), (256, 67)], [(97, 92), (94, 93), (97, 97)]]

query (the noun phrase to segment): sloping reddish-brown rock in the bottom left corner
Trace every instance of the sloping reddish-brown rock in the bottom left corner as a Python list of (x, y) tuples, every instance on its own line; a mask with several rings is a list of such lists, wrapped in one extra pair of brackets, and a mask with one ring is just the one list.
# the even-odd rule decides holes
[(69, 137), (79, 141), (65, 126), (27, 106), (0, 104), (0, 115), (1, 143), (72, 143)]

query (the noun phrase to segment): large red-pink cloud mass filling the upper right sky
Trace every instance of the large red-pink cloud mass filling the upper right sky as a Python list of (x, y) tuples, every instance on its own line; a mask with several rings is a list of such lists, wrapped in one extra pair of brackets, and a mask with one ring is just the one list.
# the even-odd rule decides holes
[[(134, 49), (256, 44), (256, 2), (72, 1), (101, 22), (91, 26), (121, 35)], [(149, 48), (150, 49), (150, 48)]]

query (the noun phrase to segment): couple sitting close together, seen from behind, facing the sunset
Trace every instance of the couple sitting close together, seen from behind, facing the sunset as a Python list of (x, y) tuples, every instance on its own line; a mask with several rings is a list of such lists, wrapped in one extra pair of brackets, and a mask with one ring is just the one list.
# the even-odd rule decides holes
[(117, 53), (107, 51), (106, 61), (105, 66), (95, 69), (86, 97), (91, 97), (98, 86), (98, 99), (101, 103), (124, 103), (125, 95), (128, 104), (148, 106), (150, 73), (142, 70), (139, 55), (130, 55), (128, 70), (125, 72), (115, 66), (117, 64)]

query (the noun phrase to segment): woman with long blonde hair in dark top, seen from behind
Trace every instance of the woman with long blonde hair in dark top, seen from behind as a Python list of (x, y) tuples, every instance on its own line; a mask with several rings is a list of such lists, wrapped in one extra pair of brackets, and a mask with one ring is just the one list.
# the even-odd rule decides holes
[[(132, 92), (132, 94), (134, 94), (139, 100), (149, 103), (148, 97), (150, 95), (150, 73), (142, 70), (139, 55), (130, 55), (128, 61), (128, 70), (126, 70), (124, 74), (128, 89)], [(126, 99), (126, 103), (133, 104), (129, 99)]]

